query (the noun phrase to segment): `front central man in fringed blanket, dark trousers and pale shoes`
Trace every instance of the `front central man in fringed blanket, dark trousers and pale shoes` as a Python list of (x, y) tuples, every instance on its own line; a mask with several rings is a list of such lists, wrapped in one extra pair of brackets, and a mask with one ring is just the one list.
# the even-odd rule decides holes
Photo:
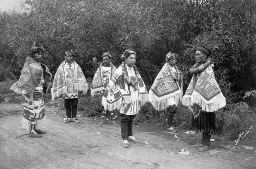
[(146, 86), (135, 66), (136, 52), (125, 50), (122, 58), (125, 60), (112, 76), (102, 97), (105, 109), (120, 109), (122, 145), (129, 147), (129, 141), (136, 141), (133, 137), (133, 119), (148, 101)]

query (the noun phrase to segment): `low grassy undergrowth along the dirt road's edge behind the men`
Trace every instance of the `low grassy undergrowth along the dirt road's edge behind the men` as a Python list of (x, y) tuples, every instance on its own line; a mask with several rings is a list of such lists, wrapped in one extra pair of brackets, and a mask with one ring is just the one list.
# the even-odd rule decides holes
[[(0, 82), (0, 103), (16, 103), (21, 104), (24, 101), (23, 96), (11, 91), (9, 88), (15, 80), (6, 79)], [(102, 96), (82, 95), (78, 98), (78, 110), (82, 116), (100, 116), (104, 111), (101, 104)], [(227, 106), (216, 112), (216, 132), (217, 134), (225, 135), (229, 140), (235, 140), (239, 134), (247, 132), (248, 128), (253, 126), (253, 129), (247, 134), (247, 140), (254, 140), (256, 135), (256, 107), (248, 106), (246, 102), (234, 103), (234, 99), (226, 98)], [(53, 104), (51, 101), (51, 93), (44, 94), (45, 105)], [(62, 106), (61, 103), (56, 103), (56, 106)], [(118, 117), (118, 110), (113, 111)], [(157, 111), (147, 102), (141, 107), (134, 122), (138, 123), (156, 123), (166, 120), (167, 110)], [(181, 128), (191, 129), (192, 112), (185, 106), (179, 104), (174, 116), (174, 122)]]

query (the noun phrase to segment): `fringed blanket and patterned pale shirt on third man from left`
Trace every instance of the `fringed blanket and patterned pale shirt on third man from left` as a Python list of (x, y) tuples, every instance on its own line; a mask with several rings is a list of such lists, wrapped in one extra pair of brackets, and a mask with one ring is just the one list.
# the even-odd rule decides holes
[(116, 67), (110, 63), (109, 70), (105, 70), (108, 67), (103, 67), (103, 63), (100, 64), (97, 69), (91, 85), (91, 95), (94, 96), (97, 93), (100, 93), (106, 89), (109, 80), (116, 71)]

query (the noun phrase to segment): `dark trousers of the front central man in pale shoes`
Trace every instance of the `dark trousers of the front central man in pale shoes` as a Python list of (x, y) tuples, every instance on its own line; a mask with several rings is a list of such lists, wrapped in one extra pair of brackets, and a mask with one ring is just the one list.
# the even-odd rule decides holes
[(133, 119), (136, 115), (121, 114), (121, 135), (123, 140), (127, 140), (128, 136), (133, 135)]

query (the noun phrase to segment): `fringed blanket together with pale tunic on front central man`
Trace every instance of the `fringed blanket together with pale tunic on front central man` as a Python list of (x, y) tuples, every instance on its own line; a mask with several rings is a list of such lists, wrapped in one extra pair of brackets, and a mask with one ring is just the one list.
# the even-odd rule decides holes
[[(136, 78), (133, 67), (125, 65), (125, 74), (129, 76), (133, 81)], [(148, 101), (147, 88), (142, 80), (140, 74), (138, 74), (137, 90), (134, 87), (128, 85), (124, 80), (121, 80), (122, 65), (118, 67), (114, 75), (112, 76), (109, 84), (102, 97), (102, 105), (106, 110), (120, 110), (120, 113), (126, 115), (137, 114), (140, 110), (140, 106), (143, 106)]]

